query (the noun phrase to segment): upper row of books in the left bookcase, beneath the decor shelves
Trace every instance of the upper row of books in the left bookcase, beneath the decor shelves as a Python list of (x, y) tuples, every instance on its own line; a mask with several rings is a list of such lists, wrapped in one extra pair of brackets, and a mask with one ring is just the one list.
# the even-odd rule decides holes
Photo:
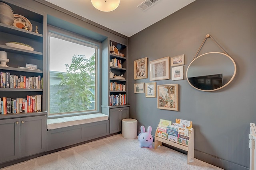
[(26, 88), (26, 89), (42, 89), (43, 78), (39, 76), (26, 77), (23, 75), (10, 75), (10, 72), (0, 72), (1, 84), (0, 88)]

